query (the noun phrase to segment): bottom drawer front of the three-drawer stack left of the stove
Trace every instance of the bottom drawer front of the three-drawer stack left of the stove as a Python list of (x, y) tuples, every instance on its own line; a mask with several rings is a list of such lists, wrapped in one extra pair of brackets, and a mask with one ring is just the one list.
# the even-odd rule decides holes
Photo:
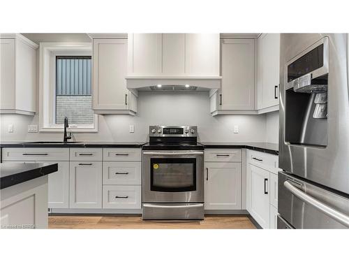
[(141, 186), (103, 186), (103, 208), (140, 209)]

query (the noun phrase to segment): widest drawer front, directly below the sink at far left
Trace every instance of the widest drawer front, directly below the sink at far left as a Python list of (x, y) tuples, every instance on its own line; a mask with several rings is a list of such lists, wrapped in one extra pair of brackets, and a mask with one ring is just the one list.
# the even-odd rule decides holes
[(3, 148), (3, 161), (69, 161), (69, 148)]

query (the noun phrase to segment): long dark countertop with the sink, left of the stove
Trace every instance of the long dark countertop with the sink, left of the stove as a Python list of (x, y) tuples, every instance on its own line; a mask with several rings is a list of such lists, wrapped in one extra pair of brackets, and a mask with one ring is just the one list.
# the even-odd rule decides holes
[[(44, 141), (45, 142), (45, 141)], [(51, 142), (51, 143), (50, 143)], [(52, 141), (45, 143), (35, 143), (31, 141), (20, 142), (2, 142), (0, 147), (142, 147), (145, 142), (110, 142), (110, 141), (91, 141), (91, 142), (77, 142), (64, 143), (61, 141)]]

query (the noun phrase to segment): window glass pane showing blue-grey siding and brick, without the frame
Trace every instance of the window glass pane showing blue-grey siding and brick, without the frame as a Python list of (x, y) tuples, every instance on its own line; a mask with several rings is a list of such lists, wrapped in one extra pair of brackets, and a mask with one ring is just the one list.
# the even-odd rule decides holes
[(93, 124), (91, 57), (56, 57), (56, 124)]

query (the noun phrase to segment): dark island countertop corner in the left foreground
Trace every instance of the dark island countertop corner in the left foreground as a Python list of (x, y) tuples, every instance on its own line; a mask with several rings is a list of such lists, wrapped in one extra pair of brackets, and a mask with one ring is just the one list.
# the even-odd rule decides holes
[(57, 163), (0, 163), (0, 189), (33, 180), (57, 170)]

